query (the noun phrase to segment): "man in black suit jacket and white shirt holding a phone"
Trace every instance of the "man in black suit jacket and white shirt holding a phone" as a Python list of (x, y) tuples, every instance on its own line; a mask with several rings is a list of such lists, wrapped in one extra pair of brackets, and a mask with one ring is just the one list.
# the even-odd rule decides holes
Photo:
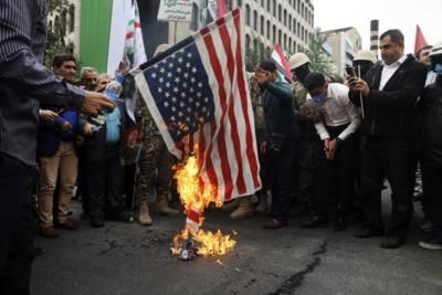
[(413, 118), (415, 102), (423, 89), (425, 70), (403, 54), (403, 35), (388, 30), (380, 36), (382, 61), (365, 80), (349, 77), (349, 97), (364, 107), (362, 177), (360, 197), (367, 226), (356, 238), (383, 235), (379, 192), (387, 178), (392, 190), (392, 210), (381, 247), (406, 242), (412, 212)]

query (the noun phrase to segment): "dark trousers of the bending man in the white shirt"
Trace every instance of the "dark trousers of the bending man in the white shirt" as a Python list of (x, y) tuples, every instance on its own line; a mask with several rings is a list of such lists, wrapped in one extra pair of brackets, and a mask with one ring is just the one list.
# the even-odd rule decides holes
[[(326, 126), (330, 140), (335, 139), (345, 126)], [(332, 211), (330, 201), (338, 203), (338, 212), (348, 214), (352, 208), (355, 194), (355, 164), (357, 155), (357, 138), (350, 135), (337, 146), (335, 157), (329, 160), (325, 151), (320, 151), (320, 164), (316, 183), (314, 210), (319, 215), (328, 215)]]

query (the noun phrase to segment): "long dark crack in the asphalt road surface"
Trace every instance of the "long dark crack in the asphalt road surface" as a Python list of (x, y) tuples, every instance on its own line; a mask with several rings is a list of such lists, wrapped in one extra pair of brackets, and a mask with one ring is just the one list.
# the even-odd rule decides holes
[(313, 273), (317, 266), (319, 266), (322, 259), (320, 255), (327, 252), (327, 239), (319, 245), (319, 249), (312, 253), (313, 260), (302, 270), (293, 274), (281, 286), (271, 295), (293, 294), (303, 283), (307, 274)]

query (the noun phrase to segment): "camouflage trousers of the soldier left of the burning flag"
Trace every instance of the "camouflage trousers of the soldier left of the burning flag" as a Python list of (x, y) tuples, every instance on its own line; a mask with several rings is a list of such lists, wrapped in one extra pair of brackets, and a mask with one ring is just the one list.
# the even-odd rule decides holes
[(175, 164), (176, 158), (167, 150), (160, 135), (155, 135), (143, 143), (135, 183), (135, 198), (138, 203), (152, 191), (167, 196)]

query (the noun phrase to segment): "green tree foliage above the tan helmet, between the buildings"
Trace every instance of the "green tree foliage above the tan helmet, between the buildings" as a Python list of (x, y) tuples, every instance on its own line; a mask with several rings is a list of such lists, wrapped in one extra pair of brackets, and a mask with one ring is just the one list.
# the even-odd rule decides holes
[(333, 62), (323, 49), (326, 41), (327, 35), (320, 33), (320, 29), (317, 28), (309, 40), (308, 49), (303, 49), (301, 52), (304, 52), (311, 59), (312, 70), (330, 73), (333, 72)]

